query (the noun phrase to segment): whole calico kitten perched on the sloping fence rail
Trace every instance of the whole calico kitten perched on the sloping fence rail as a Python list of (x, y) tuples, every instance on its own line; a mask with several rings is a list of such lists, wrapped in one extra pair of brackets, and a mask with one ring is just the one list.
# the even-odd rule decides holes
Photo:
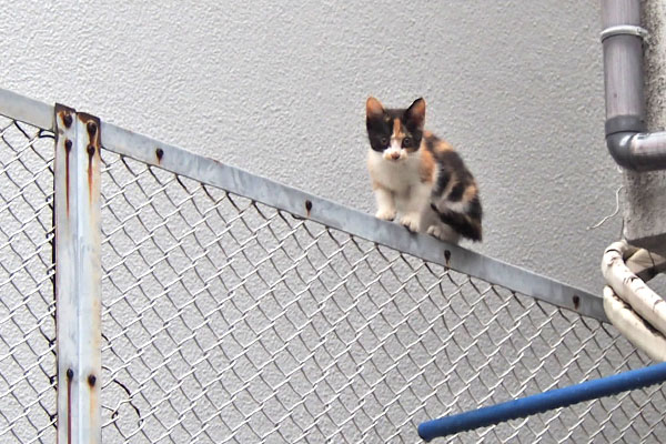
[(474, 176), (445, 141), (423, 130), (425, 100), (410, 108), (365, 103), (367, 169), (377, 201), (376, 216), (447, 242), (482, 240), (482, 208)]

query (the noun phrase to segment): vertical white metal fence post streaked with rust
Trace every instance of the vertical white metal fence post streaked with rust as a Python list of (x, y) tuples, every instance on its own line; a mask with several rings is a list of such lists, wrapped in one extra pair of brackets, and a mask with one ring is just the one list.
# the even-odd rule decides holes
[(56, 105), (58, 442), (100, 443), (100, 122)]

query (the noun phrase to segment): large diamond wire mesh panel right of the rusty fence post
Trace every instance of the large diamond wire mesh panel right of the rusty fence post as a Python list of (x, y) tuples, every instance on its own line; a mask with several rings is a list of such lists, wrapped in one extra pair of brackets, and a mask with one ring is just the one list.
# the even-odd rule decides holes
[[(103, 152), (105, 442), (420, 442), (425, 420), (636, 369), (609, 325)], [(665, 391), (451, 442), (657, 442)]]

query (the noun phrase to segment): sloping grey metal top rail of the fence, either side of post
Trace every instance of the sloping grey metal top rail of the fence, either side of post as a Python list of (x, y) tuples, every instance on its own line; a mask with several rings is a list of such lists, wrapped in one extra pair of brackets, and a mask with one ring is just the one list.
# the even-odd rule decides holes
[[(0, 114), (10, 119), (44, 130), (53, 130), (53, 105), (0, 88)], [(371, 214), (104, 121), (101, 122), (100, 135), (103, 148), (118, 154), (451, 268), (488, 283), (572, 310), (581, 315), (608, 322), (603, 309), (603, 300), (584, 290), (441, 242), (430, 235), (410, 233), (396, 223), (379, 220)]]

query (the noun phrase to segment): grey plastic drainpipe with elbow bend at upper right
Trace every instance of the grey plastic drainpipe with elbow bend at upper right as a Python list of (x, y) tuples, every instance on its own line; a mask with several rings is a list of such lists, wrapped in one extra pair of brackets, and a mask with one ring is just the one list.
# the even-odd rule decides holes
[(666, 132), (646, 132), (639, 0), (602, 0), (606, 144), (635, 171), (666, 169)]

